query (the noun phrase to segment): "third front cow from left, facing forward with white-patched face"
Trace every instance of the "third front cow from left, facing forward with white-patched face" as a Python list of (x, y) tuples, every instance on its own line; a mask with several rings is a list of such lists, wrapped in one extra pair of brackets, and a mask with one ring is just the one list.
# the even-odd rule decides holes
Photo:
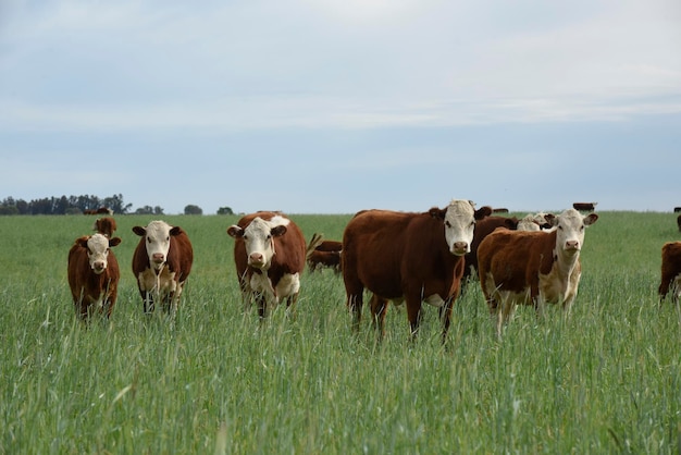
[(300, 229), (281, 212), (259, 211), (227, 229), (234, 237), (234, 262), (247, 304), (253, 297), (260, 318), (286, 300), (295, 310), (305, 269), (306, 243)]

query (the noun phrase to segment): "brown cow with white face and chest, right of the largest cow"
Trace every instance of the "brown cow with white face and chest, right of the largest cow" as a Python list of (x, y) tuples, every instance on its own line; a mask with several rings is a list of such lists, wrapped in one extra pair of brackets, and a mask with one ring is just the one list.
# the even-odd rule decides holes
[(533, 305), (542, 315), (545, 303), (562, 303), (569, 312), (582, 267), (580, 251), (586, 226), (598, 219), (568, 209), (553, 219), (552, 231), (497, 230), (478, 248), (480, 284), (497, 336), (517, 305)]

